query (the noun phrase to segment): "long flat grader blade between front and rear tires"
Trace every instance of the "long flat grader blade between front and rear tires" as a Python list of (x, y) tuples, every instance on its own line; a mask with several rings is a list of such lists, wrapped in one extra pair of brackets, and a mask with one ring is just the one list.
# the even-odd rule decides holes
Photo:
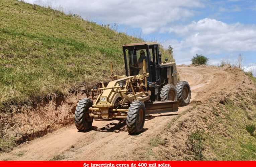
[(178, 111), (178, 101), (157, 101), (145, 103), (146, 114), (160, 114)]

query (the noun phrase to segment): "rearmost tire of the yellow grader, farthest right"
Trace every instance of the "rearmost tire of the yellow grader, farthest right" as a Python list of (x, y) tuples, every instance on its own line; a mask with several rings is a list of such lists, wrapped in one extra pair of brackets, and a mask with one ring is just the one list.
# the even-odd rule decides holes
[(190, 102), (191, 91), (188, 82), (179, 81), (176, 85), (179, 106), (186, 106)]

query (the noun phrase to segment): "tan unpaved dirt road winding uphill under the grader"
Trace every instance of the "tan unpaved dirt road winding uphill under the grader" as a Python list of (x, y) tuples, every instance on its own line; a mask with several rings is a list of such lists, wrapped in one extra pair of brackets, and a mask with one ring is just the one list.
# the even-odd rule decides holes
[[(59, 129), (16, 147), (10, 153), (2, 153), (0, 160), (49, 160), (64, 155), (65, 160), (133, 160), (133, 152), (148, 147), (151, 137), (156, 136), (179, 113), (193, 106), (193, 101), (203, 103), (211, 94), (236, 84), (231, 73), (218, 67), (177, 67), (181, 80), (191, 86), (191, 103), (178, 112), (153, 114), (146, 117), (144, 131), (128, 135), (124, 121), (94, 120), (93, 130), (78, 132), (75, 125)], [(72, 148), (74, 147), (74, 148)], [(17, 156), (17, 153), (23, 153)]]

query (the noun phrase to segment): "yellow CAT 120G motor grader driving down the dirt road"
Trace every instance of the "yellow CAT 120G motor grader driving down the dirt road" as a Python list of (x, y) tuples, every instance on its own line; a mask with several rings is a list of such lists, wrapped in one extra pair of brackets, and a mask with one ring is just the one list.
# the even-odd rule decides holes
[(162, 62), (158, 43), (142, 42), (123, 45), (125, 75), (116, 75), (110, 62), (112, 81), (105, 87), (99, 82), (92, 89), (98, 92), (93, 104), (88, 98), (77, 103), (75, 124), (79, 131), (88, 131), (93, 118), (126, 119), (127, 131), (143, 130), (147, 114), (178, 111), (190, 102), (190, 86), (177, 81), (175, 62)]

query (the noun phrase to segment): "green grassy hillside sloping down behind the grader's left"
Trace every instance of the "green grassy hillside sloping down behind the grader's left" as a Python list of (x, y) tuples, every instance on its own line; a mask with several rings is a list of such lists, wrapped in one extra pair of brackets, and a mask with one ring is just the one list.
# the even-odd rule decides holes
[[(67, 94), (123, 73), (122, 45), (141, 39), (16, 0), (0, 1), (0, 105)], [(165, 52), (164, 52), (165, 53)], [(165, 55), (167, 56), (167, 55)]]

